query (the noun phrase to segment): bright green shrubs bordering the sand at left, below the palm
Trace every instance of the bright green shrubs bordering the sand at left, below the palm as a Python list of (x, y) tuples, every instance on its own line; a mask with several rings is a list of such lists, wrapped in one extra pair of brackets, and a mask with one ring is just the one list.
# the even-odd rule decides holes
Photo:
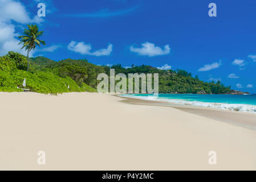
[[(64, 92), (96, 92), (85, 83), (80, 85), (69, 76), (60, 76), (54, 69), (39, 69), (39, 65), (31, 65), (26, 71), (26, 57), (15, 52), (9, 52), (0, 57), (0, 92), (22, 92), (22, 84), (26, 78), (26, 88), (38, 93)], [(69, 85), (69, 88), (68, 88)]]

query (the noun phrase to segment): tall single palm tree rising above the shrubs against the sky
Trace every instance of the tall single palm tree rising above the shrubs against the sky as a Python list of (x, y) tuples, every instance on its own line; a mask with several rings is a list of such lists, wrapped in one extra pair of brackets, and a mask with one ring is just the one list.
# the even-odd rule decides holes
[(27, 24), (29, 27), (28, 29), (25, 29), (22, 36), (19, 36), (19, 39), (21, 39), (21, 42), (19, 44), (23, 44), (23, 48), (25, 48), (25, 51), (27, 51), (27, 71), (29, 71), (29, 52), (32, 49), (35, 49), (36, 46), (40, 47), (40, 43), (42, 43), (44, 46), (46, 43), (43, 40), (39, 40), (38, 38), (43, 35), (43, 31), (38, 31), (38, 26), (35, 24)]

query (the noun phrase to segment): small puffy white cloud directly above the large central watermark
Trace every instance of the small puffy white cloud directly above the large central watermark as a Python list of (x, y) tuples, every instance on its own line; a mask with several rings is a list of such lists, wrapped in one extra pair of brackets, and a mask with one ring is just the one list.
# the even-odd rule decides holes
[(170, 46), (165, 45), (164, 49), (161, 49), (160, 47), (155, 46), (153, 43), (143, 43), (141, 44), (142, 48), (135, 48), (133, 46), (130, 47), (131, 52), (136, 52), (138, 55), (141, 56), (160, 56), (160, 55), (167, 55), (170, 53)]

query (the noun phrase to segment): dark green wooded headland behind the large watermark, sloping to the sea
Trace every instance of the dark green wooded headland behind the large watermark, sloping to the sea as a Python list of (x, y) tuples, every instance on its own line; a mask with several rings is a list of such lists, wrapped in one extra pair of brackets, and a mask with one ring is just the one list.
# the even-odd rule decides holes
[[(122, 68), (120, 64), (113, 65), (115, 73), (159, 73), (159, 93), (200, 93), (200, 94), (222, 94), (230, 92), (230, 88), (224, 86), (220, 81), (208, 83), (199, 80), (198, 76), (192, 77), (192, 73), (182, 69), (159, 70), (148, 65), (132, 68)], [(109, 71), (107, 72), (109, 75)]]

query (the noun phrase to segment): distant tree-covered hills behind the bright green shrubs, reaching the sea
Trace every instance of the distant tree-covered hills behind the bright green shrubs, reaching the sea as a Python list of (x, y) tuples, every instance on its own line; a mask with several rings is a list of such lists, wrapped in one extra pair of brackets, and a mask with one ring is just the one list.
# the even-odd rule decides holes
[(131, 68), (123, 68), (121, 64), (112, 67), (98, 66), (89, 63), (87, 60), (65, 59), (61, 61), (52, 61), (47, 57), (35, 57), (33, 63), (37, 65), (36, 69), (44, 71), (54, 71), (61, 77), (71, 77), (78, 84), (84, 82), (92, 88), (97, 88), (96, 80), (99, 73), (107, 73), (109, 69), (115, 69), (115, 73), (159, 73), (159, 93), (194, 93), (194, 94), (224, 94), (230, 93), (230, 86), (225, 86), (220, 81), (204, 82), (198, 76), (193, 77), (192, 73), (182, 69), (160, 70), (150, 65), (133, 65)]

